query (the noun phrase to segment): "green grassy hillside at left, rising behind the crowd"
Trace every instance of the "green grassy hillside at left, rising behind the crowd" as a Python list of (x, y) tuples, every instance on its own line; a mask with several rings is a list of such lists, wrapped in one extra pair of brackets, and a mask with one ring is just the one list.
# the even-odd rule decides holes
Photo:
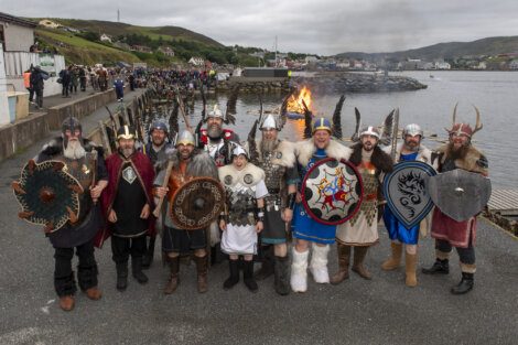
[[(39, 22), (40, 19), (32, 19)], [(192, 56), (201, 56), (218, 64), (255, 64), (248, 54), (233, 51), (203, 34), (179, 26), (138, 26), (128, 23), (48, 19), (61, 25), (51, 29), (39, 25), (36, 39), (42, 47), (57, 51), (65, 56), (66, 63), (93, 65), (102, 63), (114, 65), (118, 62), (145, 62), (150, 66), (171, 66), (184, 64)], [(111, 37), (112, 43), (101, 42), (101, 34)], [(117, 43), (116, 43), (117, 42)], [(134, 51), (131, 46), (141, 46)], [(159, 52), (169, 46), (174, 56)]]

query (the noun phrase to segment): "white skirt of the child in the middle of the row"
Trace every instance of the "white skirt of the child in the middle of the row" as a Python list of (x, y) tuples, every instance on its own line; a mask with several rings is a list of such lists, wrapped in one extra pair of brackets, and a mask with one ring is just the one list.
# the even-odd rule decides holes
[(227, 229), (222, 235), (222, 251), (229, 255), (257, 254), (256, 226), (227, 224)]

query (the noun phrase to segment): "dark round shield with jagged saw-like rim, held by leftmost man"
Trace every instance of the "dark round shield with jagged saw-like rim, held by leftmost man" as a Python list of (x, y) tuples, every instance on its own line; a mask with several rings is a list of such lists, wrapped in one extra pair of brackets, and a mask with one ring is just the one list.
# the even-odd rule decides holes
[(54, 233), (67, 220), (77, 222), (79, 193), (83, 187), (71, 174), (63, 171), (60, 161), (40, 164), (30, 160), (22, 169), (19, 181), (12, 183), (14, 196), (22, 206), (19, 217), (32, 224), (45, 226), (45, 233)]

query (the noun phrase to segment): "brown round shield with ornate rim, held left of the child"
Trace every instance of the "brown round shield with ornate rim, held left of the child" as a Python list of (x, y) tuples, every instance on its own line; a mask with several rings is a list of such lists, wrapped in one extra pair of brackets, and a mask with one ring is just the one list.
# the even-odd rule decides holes
[(219, 216), (224, 204), (225, 191), (219, 181), (195, 177), (174, 193), (171, 218), (181, 229), (202, 229)]

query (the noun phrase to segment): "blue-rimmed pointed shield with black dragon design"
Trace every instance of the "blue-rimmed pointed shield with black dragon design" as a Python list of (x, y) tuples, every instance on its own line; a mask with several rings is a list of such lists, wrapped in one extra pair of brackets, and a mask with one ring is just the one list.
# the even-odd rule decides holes
[(432, 209), (428, 183), (435, 170), (419, 161), (400, 162), (385, 176), (384, 195), (396, 218), (406, 227), (418, 225)]

